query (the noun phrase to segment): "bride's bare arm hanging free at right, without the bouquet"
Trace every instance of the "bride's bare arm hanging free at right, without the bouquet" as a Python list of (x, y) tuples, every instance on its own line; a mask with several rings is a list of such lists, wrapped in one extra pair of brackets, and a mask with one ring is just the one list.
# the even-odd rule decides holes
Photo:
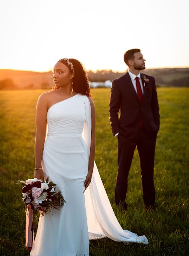
[(91, 148), (89, 156), (88, 174), (84, 183), (85, 189), (89, 186), (92, 178), (92, 172), (94, 167), (94, 155), (95, 155), (95, 106), (91, 98), (89, 98), (91, 105)]

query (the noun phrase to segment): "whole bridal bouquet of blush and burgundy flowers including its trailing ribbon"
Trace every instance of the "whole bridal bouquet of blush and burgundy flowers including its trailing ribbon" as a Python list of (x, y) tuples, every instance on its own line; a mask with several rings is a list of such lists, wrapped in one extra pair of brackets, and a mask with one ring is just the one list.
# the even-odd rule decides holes
[(37, 216), (49, 213), (50, 208), (58, 209), (63, 207), (66, 202), (61, 192), (55, 192), (56, 184), (49, 182), (49, 177), (45, 180), (37, 178), (26, 181), (17, 180), (16, 183), (23, 184), (22, 199), (25, 202), (26, 212), (26, 248), (31, 250), (34, 243), (33, 231), (33, 214), (37, 212)]

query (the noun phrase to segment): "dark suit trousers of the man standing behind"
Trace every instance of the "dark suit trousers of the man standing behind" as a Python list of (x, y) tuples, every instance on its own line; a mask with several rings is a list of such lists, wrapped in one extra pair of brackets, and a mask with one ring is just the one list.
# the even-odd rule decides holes
[(143, 201), (145, 205), (155, 204), (154, 159), (156, 138), (157, 134), (149, 135), (144, 129), (139, 129), (134, 139), (128, 139), (122, 134), (118, 135), (118, 171), (115, 185), (116, 204), (124, 202), (126, 199), (129, 169), (136, 147), (140, 158)]

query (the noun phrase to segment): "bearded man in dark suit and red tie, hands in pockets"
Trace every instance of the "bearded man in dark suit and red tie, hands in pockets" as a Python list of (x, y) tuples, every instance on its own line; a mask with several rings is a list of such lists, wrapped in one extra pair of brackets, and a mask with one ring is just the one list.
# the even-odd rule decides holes
[(145, 69), (145, 59), (140, 49), (128, 50), (124, 54), (124, 61), (129, 71), (112, 81), (109, 104), (112, 133), (118, 141), (115, 203), (127, 209), (127, 178), (137, 147), (143, 201), (146, 209), (155, 209), (154, 158), (156, 137), (160, 127), (155, 79), (140, 73), (140, 70)]

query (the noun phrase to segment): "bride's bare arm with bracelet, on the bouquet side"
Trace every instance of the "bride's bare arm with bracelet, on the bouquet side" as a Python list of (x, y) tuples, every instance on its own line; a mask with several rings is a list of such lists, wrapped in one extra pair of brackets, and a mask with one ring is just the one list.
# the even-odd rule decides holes
[[(35, 168), (41, 168), (43, 146), (46, 137), (46, 93), (40, 95), (36, 106)], [(43, 180), (43, 170), (35, 170), (34, 178)]]

